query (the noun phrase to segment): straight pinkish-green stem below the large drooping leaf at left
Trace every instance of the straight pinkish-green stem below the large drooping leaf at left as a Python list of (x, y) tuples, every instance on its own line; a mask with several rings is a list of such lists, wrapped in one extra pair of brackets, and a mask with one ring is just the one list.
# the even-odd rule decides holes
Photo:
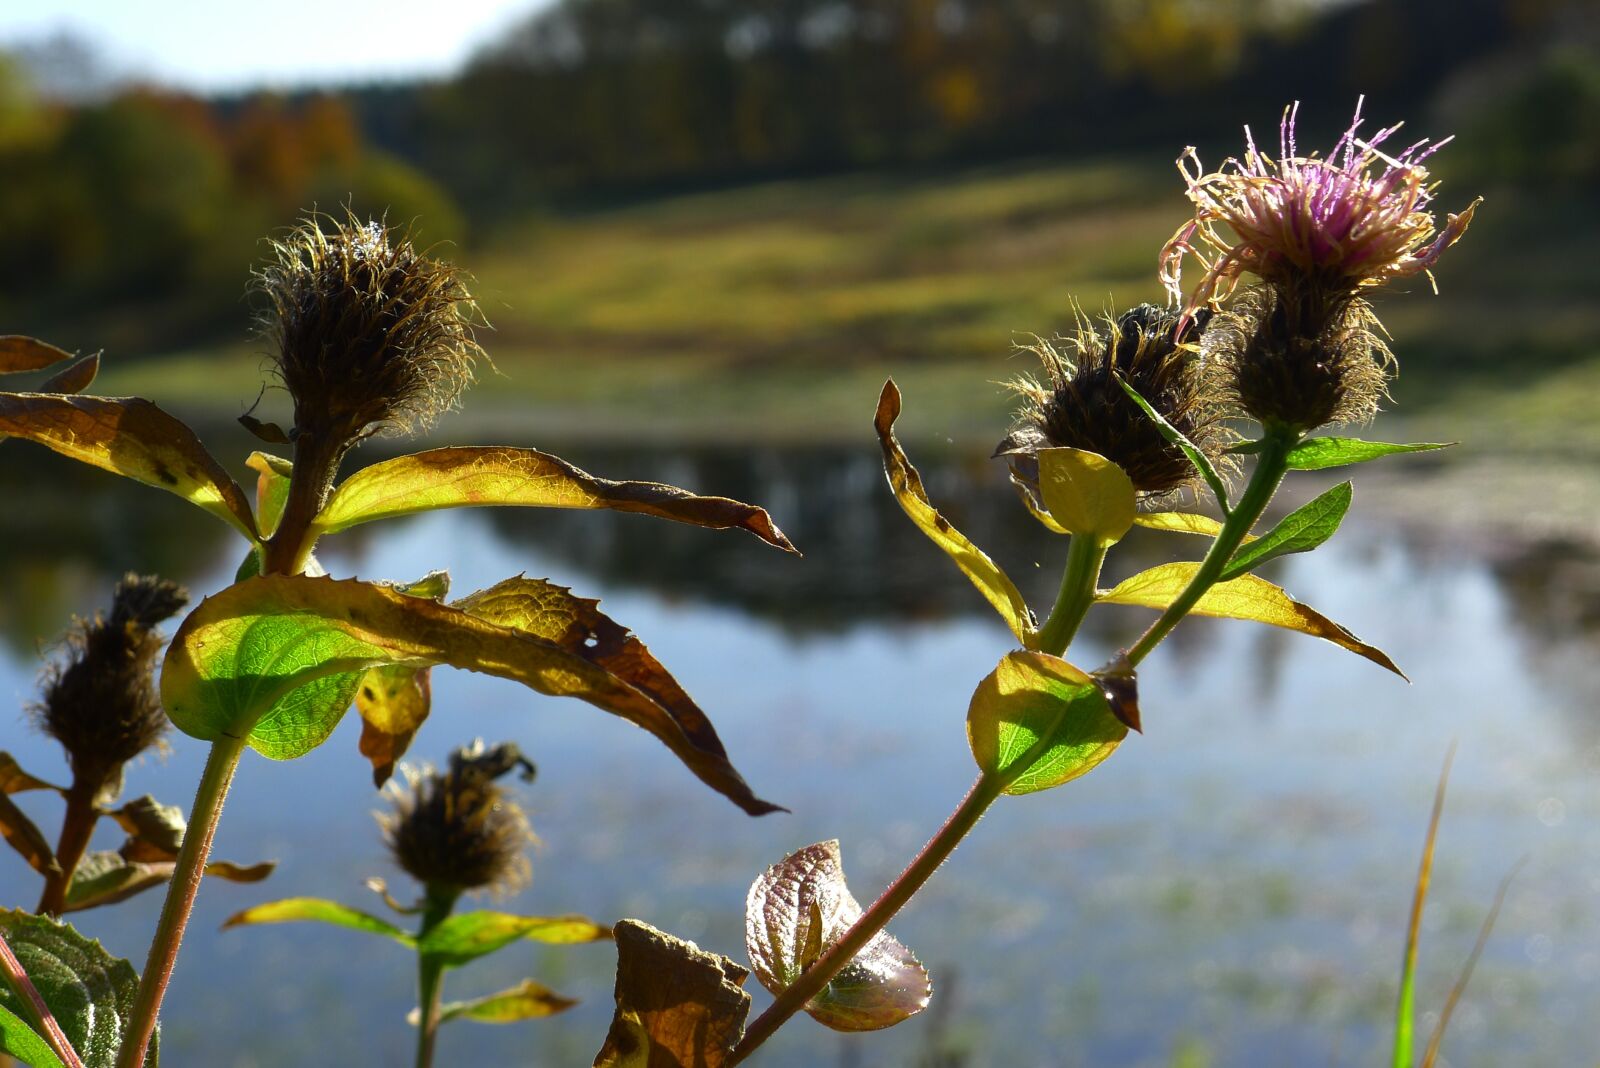
[(200, 774), (200, 788), (195, 791), (195, 804), (189, 811), (189, 830), (184, 831), (173, 881), (162, 905), (162, 918), (155, 926), (150, 956), (144, 964), (144, 975), (139, 977), (139, 993), (133, 1001), (133, 1015), (117, 1055), (117, 1068), (144, 1065), (144, 1054), (155, 1033), (155, 1018), (162, 1010), (162, 996), (178, 962), (178, 945), (182, 942), (189, 913), (194, 911), (195, 895), (200, 892), (206, 857), (211, 855), (211, 839), (222, 815), (222, 799), (227, 798), (227, 788), (234, 782), (234, 771), (243, 751), (245, 739), (222, 737), (211, 743), (205, 771)]

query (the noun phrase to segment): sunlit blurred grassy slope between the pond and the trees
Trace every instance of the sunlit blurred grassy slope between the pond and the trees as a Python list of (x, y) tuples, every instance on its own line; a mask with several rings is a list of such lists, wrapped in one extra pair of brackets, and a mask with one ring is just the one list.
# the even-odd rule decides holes
[[(1466, 189), (1443, 187), (1443, 208)], [(1600, 456), (1595, 224), (1576, 198), (1483, 190), (1467, 238), (1381, 296), (1418, 428), (1493, 428), (1520, 449)], [(459, 253), (499, 374), (470, 417), (520, 438), (827, 440), (864, 433), (878, 387), (906, 432), (989, 438), (1014, 342), (1072, 302), (1157, 301), (1155, 254), (1186, 216), (1162, 160), (853, 176), (530, 219)], [(242, 312), (243, 318), (243, 312)], [(117, 368), (102, 387), (232, 414), (259, 347)], [(286, 416), (282, 393), (264, 408)], [(1454, 427), (1454, 428), (1453, 428)]]

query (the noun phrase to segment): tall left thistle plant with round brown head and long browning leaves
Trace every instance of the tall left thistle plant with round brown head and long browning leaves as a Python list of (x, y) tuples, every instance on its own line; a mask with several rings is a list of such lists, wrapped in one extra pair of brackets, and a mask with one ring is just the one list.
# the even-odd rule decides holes
[[(38, 390), (0, 393), (0, 435), (174, 492), (246, 542), (237, 582), (182, 620), (162, 664), (168, 718), (210, 743), (210, 753), (138, 990), (118, 986), (128, 1004), (98, 1015), (115, 1030), (107, 1039), (114, 1052), (101, 1060), (122, 1068), (146, 1063), (243, 751), (302, 756), (354, 703), (370, 727), (362, 750), (384, 779), (429, 715), (434, 665), (584, 700), (650, 731), (742, 811), (778, 809), (734, 769), (709, 716), (597, 601), (517, 576), (446, 603), (445, 572), (410, 584), (333, 579), (314, 556), (322, 537), (362, 523), (469, 505), (637, 512), (744, 529), (794, 552), (765, 510), (658, 483), (597, 478), (557, 456), (510, 446), (427, 449), (341, 481), (341, 460), (362, 441), (426, 427), (458, 401), (482, 352), (482, 320), (466, 280), (382, 224), (315, 216), (274, 245), (258, 291), (294, 425), (243, 420), (266, 441), (293, 446), (293, 457), (248, 459), (258, 475), (254, 502), (194, 430), (154, 403), (83, 395), (98, 357), (70, 363)], [(66, 360), (66, 352), (30, 337), (0, 339), (0, 373), (43, 371)], [(0, 1017), (0, 1038), (29, 1026), (11, 1018), (18, 1023)], [(56, 1057), (72, 1063), (75, 1052), (56, 1046)]]

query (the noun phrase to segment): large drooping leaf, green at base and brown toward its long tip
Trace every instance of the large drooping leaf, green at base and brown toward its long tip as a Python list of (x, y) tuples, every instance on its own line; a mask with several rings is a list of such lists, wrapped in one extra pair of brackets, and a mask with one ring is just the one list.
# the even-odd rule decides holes
[[(296, 689), (386, 664), (450, 664), (515, 679), (541, 694), (582, 699), (654, 734), (746, 812), (778, 807), (750, 791), (709, 724), (680, 721), (661, 699), (613, 673), (600, 656), (598, 646), (574, 652), (392, 587), (259, 576), (206, 598), (189, 614), (166, 651), (162, 700), (173, 723), (192, 737), (248, 735), (251, 747), (264, 751), (304, 751), (326, 737), (338, 716), (328, 713), (333, 702), (320, 700), (304, 707), (304, 719), (274, 710)], [(275, 734), (258, 737), (269, 711)]]

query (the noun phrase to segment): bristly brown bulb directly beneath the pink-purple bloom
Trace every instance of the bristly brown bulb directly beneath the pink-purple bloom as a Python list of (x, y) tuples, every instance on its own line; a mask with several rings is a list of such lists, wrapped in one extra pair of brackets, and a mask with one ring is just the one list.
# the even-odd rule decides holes
[(1307, 432), (1362, 424), (1387, 397), (1394, 355), (1358, 299), (1317, 286), (1251, 286), (1200, 342), (1219, 395), (1264, 427)]

